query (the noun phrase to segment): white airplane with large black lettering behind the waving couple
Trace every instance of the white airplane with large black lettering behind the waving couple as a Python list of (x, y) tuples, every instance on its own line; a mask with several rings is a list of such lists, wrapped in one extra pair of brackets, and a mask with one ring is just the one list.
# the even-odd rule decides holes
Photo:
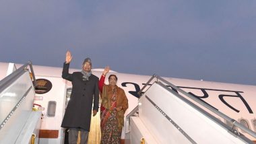
[[(71, 64), (72, 65), (72, 64)], [(15, 71), (21, 64), (0, 63), (0, 80)], [(38, 135), (38, 143), (65, 143), (67, 131), (61, 128), (61, 122), (71, 94), (71, 82), (61, 77), (62, 67), (46, 67), (33, 65), (36, 83), (34, 96), (34, 110), (42, 112), (42, 121)], [(69, 73), (80, 69), (69, 69)], [(104, 69), (92, 69), (97, 77), (102, 75)], [(115, 74), (118, 77), (117, 85), (125, 90), (129, 100), (129, 108), (125, 115), (129, 114), (138, 105), (138, 99), (142, 87), (146, 85), (150, 75), (134, 75), (110, 71), (108, 75)], [(106, 75), (106, 77), (108, 77)], [(214, 81), (179, 79), (163, 77), (180, 89), (200, 100), (204, 104), (218, 110), (230, 118), (234, 118), (244, 127), (256, 132), (256, 86), (234, 83), (220, 83)], [(108, 83), (108, 81), (105, 81)], [(150, 83), (152, 85), (153, 83)], [(170, 85), (166, 85), (170, 87)], [(150, 87), (150, 86), (148, 86)], [(171, 87), (173, 89), (173, 87)], [(177, 92), (176, 89), (173, 89)], [(143, 91), (143, 92), (146, 92)], [(178, 93), (178, 92), (177, 92)], [(197, 104), (195, 102), (195, 104)], [(0, 110), (1, 111), (1, 110)], [(98, 143), (100, 139), (100, 112), (92, 117), (89, 143)], [(0, 113), (1, 114), (1, 113)], [(219, 118), (222, 122), (232, 127), (232, 123)], [(1, 131), (1, 129), (0, 129)], [(256, 143), (255, 137), (251, 137), (245, 131), (243, 135)], [(125, 139), (125, 129), (121, 139)], [(0, 140), (1, 141), (1, 140)]]

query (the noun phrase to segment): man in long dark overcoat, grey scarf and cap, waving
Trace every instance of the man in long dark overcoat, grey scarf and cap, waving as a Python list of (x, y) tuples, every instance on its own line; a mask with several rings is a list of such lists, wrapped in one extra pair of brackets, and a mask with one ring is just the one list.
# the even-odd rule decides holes
[(69, 144), (77, 143), (78, 131), (80, 131), (80, 143), (87, 143), (92, 101), (94, 101), (93, 116), (98, 112), (98, 77), (92, 74), (92, 61), (90, 58), (84, 60), (81, 72), (77, 71), (70, 74), (69, 63), (71, 60), (71, 52), (67, 51), (62, 77), (71, 81), (73, 87), (61, 127), (69, 129)]

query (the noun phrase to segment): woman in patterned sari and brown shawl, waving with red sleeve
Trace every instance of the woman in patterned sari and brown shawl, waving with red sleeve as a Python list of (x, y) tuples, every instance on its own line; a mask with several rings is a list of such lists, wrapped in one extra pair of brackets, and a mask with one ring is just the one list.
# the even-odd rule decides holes
[(128, 100), (123, 89), (117, 86), (117, 76), (109, 75), (108, 85), (104, 84), (109, 67), (105, 67), (98, 87), (102, 98), (100, 106), (101, 144), (120, 143), (125, 110)]

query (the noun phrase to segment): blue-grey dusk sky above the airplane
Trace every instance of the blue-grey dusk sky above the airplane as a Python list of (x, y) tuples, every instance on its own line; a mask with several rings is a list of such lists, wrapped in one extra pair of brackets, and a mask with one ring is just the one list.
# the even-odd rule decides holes
[[(256, 1), (0, 0), (0, 61), (256, 85)], [(0, 68), (1, 69), (1, 68)]]

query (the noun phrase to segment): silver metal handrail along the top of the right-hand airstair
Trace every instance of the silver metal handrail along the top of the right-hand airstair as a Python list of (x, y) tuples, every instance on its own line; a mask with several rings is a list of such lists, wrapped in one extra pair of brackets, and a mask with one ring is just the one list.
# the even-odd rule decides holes
[[(237, 128), (239, 128), (239, 129), (245, 131), (246, 133), (248, 133), (248, 134), (251, 135), (252, 137), (255, 137), (255, 138), (256, 138), (256, 133), (255, 133), (254, 131), (251, 131), (251, 129), (248, 129), (247, 127), (243, 126), (243, 124), (241, 124), (241, 123), (237, 122), (236, 120), (234, 120), (234, 119), (228, 117), (226, 114), (223, 114), (222, 112), (220, 112), (220, 111), (218, 111), (218, 110), (212, 108), (211, 106), (209, 106), (209, 105), (207, 105), (207, 104), (201, 102), (201, 101), (198, 100), (197, 98), (195, 98), (195, 97), (191, 96), (190, 94), (188, 94), (187, 92), (185, 92), (183, 89), (180, 89), (179, 87), (173, 85), (173, 84), (170, 83), (169, 81), (166, 81), (165, 79), (163, 79), (162, 77), (160, 77), (160, 76), (158, 76), (158, 75), (156, 75), (156, 74), (152, 75), (152, 77), (151, 77), (150, 80), (146, 83), (146, 85), (144, 85), (144, 86), (141, 88), (141, 90), (138, 92), (139, 96), (141, 96), (143, 90), (150, 84), (150, 82), (151, 82), (154, 78), (157, 79), (156, 81), (158, 81), (158, 80), (163, 81), (164, 83), (166, 83), (166, 84), (169, 85), (170, 87), (176, 89), (178, 92), (181, 92), (181, 94), (183, 94), (183, 95), (185, 95), (185, 96), (191, 98), (192, 100), (194, 100), (195, 102), (197, 102), (197, 103), (200, 104), (201, 106), (207, 108), (207, 109), (210, 110), (211, 112), (214, 112), (214, 114), (220, 116), (221, 118), (224, 118), (227, 122), (231, 122), (231, 123), (233, 124), (233, 129), (237, 127)], [(162, 86), (165, 86), (166, 89), (172, 90), (170, 87), (167, 87), (166, 85), (162, 85)], [(132, 112), (133, 112), (133, 114), (134, 114), (134, 111), (131, 111), (127, 116), (133, 115), (133, 114), (131, 114)]]

